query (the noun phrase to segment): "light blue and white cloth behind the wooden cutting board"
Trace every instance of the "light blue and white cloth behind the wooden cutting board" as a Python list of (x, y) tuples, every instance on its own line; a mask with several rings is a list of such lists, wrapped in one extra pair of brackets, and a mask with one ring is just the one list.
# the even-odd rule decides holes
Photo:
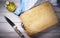
[(19, 15), (22, 12), (32, 8), (37, 0), (20, 0), (20, 7), (18, 7), (14, 14)]

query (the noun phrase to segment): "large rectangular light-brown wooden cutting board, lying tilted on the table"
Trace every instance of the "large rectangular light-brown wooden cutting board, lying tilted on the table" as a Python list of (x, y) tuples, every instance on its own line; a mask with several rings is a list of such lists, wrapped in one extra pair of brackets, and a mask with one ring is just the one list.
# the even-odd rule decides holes
[(49, 2), (27, 10), (20, 15), (27, 33), (31, 36), (58, 23), (57, 16)]

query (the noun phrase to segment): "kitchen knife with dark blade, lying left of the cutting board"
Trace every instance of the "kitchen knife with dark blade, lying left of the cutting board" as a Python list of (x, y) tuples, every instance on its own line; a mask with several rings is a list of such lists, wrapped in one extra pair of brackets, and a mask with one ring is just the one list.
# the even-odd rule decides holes
[(18, 33), (18, 35), (21, 37), (21, 38), (30, 38), (27, 33), (22, 33), (21, 30), (24, 30), (22, 27), (20, 27), (21, 30), (18, 29), (18, 27), (9, 19), (7, 18), (6, 16), (4, 16), (5, 19), (7, 20), (7, 22), (14, 28), (14, 30)]

